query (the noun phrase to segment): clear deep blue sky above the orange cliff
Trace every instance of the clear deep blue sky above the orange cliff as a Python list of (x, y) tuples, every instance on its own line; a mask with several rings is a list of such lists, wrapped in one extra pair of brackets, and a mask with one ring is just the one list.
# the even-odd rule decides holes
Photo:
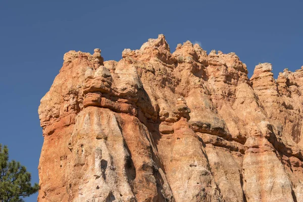
[[(249, 77), (259, 63), (280, 71), (303, 65), (302, 1), (1, 1), (0, 143), (38, 182), (43, 143), (37, 109), (63, 63), (64, 53), (120, 60), (163, 33), (178, 43), (235, 52)], [(26, 198), (35, 201), (37, 194)]]

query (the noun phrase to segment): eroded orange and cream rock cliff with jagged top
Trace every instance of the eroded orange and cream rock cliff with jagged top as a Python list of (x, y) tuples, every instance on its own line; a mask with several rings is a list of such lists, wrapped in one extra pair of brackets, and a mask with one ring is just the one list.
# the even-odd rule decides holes
[[(303, 68), (303, 67), (302, 67)], [(303, 69), (165, 36), (70, 51), (41, 99), (38, 201), (303, 201)]]

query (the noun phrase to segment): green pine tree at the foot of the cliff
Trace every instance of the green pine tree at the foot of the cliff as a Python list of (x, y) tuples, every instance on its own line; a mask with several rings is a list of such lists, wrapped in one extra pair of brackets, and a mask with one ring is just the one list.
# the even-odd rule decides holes
[(0, 201), (22, 202), (22, 198), (36, 193), (39, 185), (31, 185), (31, 174), (20, 162), (9, 162), (9, 149), (0, 144)]

